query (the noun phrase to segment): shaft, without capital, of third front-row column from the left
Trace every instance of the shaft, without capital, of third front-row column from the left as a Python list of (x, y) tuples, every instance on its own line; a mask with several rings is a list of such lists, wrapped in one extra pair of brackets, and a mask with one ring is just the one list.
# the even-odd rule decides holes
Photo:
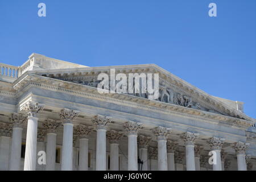
[(106, 171), (106, 129), (97, 129), (96, 171)]

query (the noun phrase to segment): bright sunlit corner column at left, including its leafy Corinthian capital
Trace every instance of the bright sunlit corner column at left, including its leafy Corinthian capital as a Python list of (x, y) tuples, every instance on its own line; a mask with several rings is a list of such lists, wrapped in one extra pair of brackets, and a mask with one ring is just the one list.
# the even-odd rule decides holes
[(24, 111), (28, 114), (26, 151), (24, 159), (24, 171), (35, 171), (36, 169), (36, 140), (38, 134), (38, 113), (43, 110), (44, 105), (28, 102)]

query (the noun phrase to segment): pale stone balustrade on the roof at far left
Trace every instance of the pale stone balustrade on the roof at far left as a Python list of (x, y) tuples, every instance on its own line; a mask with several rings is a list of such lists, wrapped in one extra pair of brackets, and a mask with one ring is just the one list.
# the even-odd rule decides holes
[(19, 67), (0, 63), (0, 80), (13, 82), (19, 76)]

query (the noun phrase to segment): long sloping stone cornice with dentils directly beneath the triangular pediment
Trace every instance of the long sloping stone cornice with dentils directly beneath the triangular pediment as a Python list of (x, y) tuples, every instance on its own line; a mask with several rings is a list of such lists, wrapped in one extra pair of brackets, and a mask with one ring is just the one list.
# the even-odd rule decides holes
[[(139, 109), (157, 111), (164, 114), (174, 114), (180, 117), (193, 118), (203, 122), (214, 123), (228, 127), (236, 127), (243, 130), (246, 130), (249, 126), (253, 125), (253, 122), (246, 121), (244, 119), (209, 113), (207, 111), (172, 105), (160, 101), (148, 100), (146, 98), (130, 96), (128, 94), (115, 93), (102, 95), (97, 92), (97, 88), (93, 88), (91, 86), (56, 80), (54, 78), (38, 75), (29, 74), (14, 84), (14, 88), (18, 91), (22, 91), (27, 86), (36, 86), (47, 90), (64, 92), (80, 97), (93, 98), (95, 100), (112, 102), (119, 105), (127, 105)], [(17, 92), (17, 94), (19, 93)]]

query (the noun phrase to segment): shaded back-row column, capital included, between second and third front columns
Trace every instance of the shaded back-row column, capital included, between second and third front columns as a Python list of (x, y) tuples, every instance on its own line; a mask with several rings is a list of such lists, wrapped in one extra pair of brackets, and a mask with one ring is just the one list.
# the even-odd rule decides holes
[(88, 171), (88, 141), (92, 127), (79, 125), (75, 133), (79, 137), (79, 171)]

